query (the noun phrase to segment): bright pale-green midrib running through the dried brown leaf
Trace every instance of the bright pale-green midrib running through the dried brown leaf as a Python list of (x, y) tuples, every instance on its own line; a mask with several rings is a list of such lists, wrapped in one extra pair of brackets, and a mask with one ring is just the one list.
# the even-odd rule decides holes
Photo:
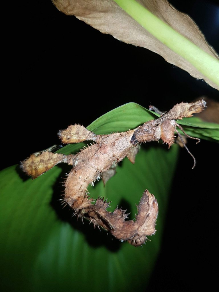
[(153, 15), (135, 0), (114, 0), (126, 13), (172, 51), (219, 86), (219, 61)]

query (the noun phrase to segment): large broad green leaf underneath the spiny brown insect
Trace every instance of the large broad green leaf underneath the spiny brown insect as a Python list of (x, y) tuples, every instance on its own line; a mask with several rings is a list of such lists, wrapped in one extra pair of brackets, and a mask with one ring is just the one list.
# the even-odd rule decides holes
[[(134, 128), (154, 114), (128, 103), (95, 120), (88, 128), (110, 133)], [(73, 123), (74, 121), (72, 121)], [(204, 130), (203, 130), (204, 131)], [(145, 146), (145, 147), (144, 147)], [(66, 168), (54, 167), (35, 180), (23, 179), (16, 166), (0, 173), (1, 284), (4, 291), (133, 291), (147, 284), (156, 262), (165, 222), (168, 192), (177, 161), (178, 147), (161, 143), (142, 145), (132, 165), (124, 159), (106, 187), (102, 181), (89, 187), (112, 200), (112, 210), (123, 206), (134, 217), (147, 188), (159, 204), (157, 232), (143, 248), (121, 243), (105, 231), (94, 230), (72, 218), (72, 211), (58, 204), (58, 187)], [(67, 145), (68, 154), (81, 143)], [(167, 171), (168, 169), (168, 171)]]

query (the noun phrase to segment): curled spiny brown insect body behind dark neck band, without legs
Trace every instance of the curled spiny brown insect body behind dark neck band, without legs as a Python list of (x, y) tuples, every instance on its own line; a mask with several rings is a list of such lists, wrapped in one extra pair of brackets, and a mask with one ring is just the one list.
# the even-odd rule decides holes
[(97, 144), (81, 150), (80, 163), (76, 163), (67, 176), (64, 199), (74, 209), (75, 215), (87, 218), (94, 225), (109, 230), (117, 239), (127, 240), (132, 245), (139, 246), (145, 242), (146, 236), (155, 233), (158, 205), (154, 196), (145, 191), (138, 205), (136, 220), (127, 221), (128, 214), (125, 211), (119, 208), (114, 212), (107, 211), (109, 203), (102, 198), (92, 204), (93, 199), (87, 191), (88, 185), (93, 185), (95, 180), (99, 180), (113, 163), (121, 161), (125, 156), (134, 163), (137, 147), (130, 143), (133, 133), (134, 130), (102, 135), (98, 137)]

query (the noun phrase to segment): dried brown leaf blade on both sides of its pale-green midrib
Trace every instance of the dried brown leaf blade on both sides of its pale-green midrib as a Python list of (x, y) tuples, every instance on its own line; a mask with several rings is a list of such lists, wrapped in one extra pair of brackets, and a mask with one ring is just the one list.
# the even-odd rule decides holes
[[(128, 44), (147, 48), (161, 55), (167, 62), (187, 71), (197, 79), (204, 79), (214, 88), (218, 86), (206, 78), (188, 60), (172, 51), (165, 44), (144, 29), (113, 0), (52, 0), (55, 6), (67, 15), (78, 19), (100, 30), (111, 34), (116, 39)], [(136, 0), (159, 19), (170, 25), (175, 31), (189, 39), (203, 51), (218, 58), (217, 53), (206, 42), (195, 22), (185, 13), (177, 11), (166, 0)]]

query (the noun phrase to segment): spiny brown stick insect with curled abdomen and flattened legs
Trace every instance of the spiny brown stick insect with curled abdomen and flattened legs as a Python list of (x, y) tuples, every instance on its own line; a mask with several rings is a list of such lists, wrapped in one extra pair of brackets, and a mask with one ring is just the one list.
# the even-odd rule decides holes
[[(187, 135), (175, 120), (191, 117), (193, 113), (199, 113), (205, 107), (204, 100), (192, 103), (181, 102), (168, 112), (160, 112), (156, 107), (150, 106), (150, 109), (159, 113), (161, 117), (122, 133), (117, 131), (106, 135), (96, 135), (84, 126), (71, 125), (58, 132), (63, 143), (78, 143), (86, 140), (93, 142), (76, 154), (52, 153), (50, 149), (37, 152), (22, 161), (20, 167), (27, 175), (37, 178), (58, 163), (71, 165), (71, 171), (65, 173), (66, 178), (63, 178), (62, 182), (65, 185), (65, 192), (63, 198), (59, 199), (61, 206), (69, 205), (73, 209), (72, 217), (75, 216), (77, 220), (81, 218), (82, 223), (84, 223), (83, 218), (86, 218), (94, 228), (97, 226), (101, 230), (100, 227), (102, 227), (121, 242), (127, 241), (133, 246), (142, 246), (149, 240), (147, 237), (156, 232), (158, 204), (154, 195), (145, 190), (138, 206), (136, 205), (138, 213), (135, 215), (135, 220), (127, 220), (129, 213), (126, 213), (126, 210), (117, 206), (113, 212), (109, 212), (107, 208), (110, 207), (110, 202), (104, 200), (104, 197), (91, 198), (87, 190), (88, 185), (94, 186), (94, 182), (101, 178), (105, 185), (116, 173), (118, 162), (126, 156), (134, 164), (139, 145), (142, 143), (161, 139), (170, 148), (175, 141), (175, 133), (193, 157), (194, 168), (195, 158), (176, 128), (178, 127), (188, 138), (196, 139), (197, 143), (200, 140)], [(94, 202), (95, 204), (92, 204)]]

